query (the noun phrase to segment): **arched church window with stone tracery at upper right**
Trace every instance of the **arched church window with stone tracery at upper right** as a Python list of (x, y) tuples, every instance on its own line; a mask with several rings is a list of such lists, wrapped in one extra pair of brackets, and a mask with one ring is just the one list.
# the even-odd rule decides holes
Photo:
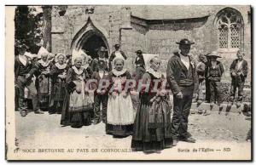
[(222, 51), (236, 51), (242, 48), (243, 21), (235, 9), (223, 9), (218, 12), (218, 48)]

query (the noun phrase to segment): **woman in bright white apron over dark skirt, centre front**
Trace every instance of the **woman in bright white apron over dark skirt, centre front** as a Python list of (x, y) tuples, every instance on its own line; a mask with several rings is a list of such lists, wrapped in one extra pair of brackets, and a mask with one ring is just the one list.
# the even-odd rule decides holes
[(131, 79), (131, 74), (124, 69), (124, 58), (116, 57), (113, 64), (114, 68), (109, 72), (111, 88), (106, 131), (107, 134), (113, 134), (113, 137), (126, 137), (132, 134), (134, 122), (130, 90), (125, 91), (125, 83)]

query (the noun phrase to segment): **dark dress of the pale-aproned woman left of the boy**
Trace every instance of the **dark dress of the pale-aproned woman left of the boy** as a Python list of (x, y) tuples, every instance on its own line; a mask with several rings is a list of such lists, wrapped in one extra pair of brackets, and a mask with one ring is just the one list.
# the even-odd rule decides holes
[[(75, 66), (73, 66), (75, 67)], [(82, 93), (79, 94), (76, 91), (77, 86), (79, 86), (76, 83), (73, 83), (74, 81), (79, 81), (79, 77), (83, 77), (83, 81), (90, 78), (90, 68), (83, 69), (83, 72), (81, 74), (77, 74), (73, 67), (71, 67), (67, 71), (67, 94), (64, 100), (63, 109), (61, 112), (61, 125), (64, 126), (71, 126), (72, 128), (81, 128), (82, 126), (88, 126), (91, 123), (91, 116), (93, 114), (93, 106), (91, 106), (91, 109), (88, 110), (88, 108), (85, 108), (86, 101), (81, 100), (80, 97), (82, 97)], [(77, 102), (71, 106), (70, 100), (71, 97), (77, 97), (77, 100), (80, 100), (80, 102)], [(85, 99), (88, 101), (89, 95), (84, 94)], [(81, 103), (84, 102), (83, 103)], [(82, 105), (81, 105), (82, 104)], [(76, 106), (77, 105), (77, 106)]]

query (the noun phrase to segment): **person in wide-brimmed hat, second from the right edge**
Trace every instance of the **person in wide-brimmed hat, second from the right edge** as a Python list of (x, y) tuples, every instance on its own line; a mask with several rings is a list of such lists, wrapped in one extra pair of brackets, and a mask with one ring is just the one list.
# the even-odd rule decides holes
[(218, 52), (213, 51), (210, 54), (207, 54), (208, 59), (210, 60), (207, 66), (207, 80), (209, 82), (210, 88), (210, 104), (213, 106), (216, 102), (218, 105), (222, 102), (221, 98), (221, 77), (224, 73), (224, 67), (218, 58), (221, 56)]

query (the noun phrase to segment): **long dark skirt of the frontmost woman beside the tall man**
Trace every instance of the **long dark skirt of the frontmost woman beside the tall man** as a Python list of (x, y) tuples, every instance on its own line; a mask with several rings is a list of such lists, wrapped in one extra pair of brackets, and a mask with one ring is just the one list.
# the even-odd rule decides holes
[(143, 102), (137, 111), (133, 136), (131, 140), (131, 149), (133, 151), (160, 151), (172, 147), (172, 127), (170, 113), (168, 121), (163, 123), (162, 127), (148, 128), (150, 105)]

